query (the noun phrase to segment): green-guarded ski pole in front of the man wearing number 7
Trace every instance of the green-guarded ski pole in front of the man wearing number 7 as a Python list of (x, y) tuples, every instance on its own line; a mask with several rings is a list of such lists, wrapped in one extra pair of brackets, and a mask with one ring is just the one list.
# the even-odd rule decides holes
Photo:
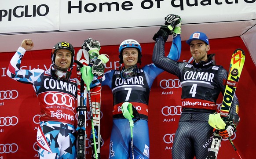
[(134, 122), (132, 120), (133, 115), (132, 115), (132, 103), (129, 102), (124, 102), (122, 105), (122, 113), (123, 116), (129, 120), (130, 123), (130, 129), (131, 129), (131, 148), (132, 148), (132, 159), (134, 159), (134, 151), (133, 151), (133, 126), (134, 126)]

